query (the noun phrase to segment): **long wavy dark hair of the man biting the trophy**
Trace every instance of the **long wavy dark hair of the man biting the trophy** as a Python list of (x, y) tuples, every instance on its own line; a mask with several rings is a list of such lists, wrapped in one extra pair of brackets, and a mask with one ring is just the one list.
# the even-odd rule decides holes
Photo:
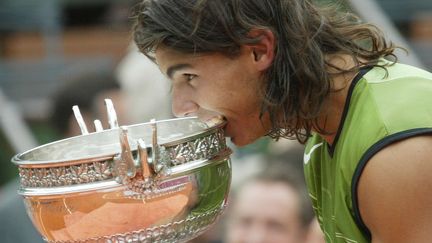
[[(149, 57), (161, 45), (181, 53), (222, 53), (236, 57), (242, 45), (259, 43), (252, 30), (275, 35), (275, 57), (263, 74), (266, 86), (261, 117), (269, 113), (273, 138), (304, 143), (318, 125), (332, 78), (362, 66), (396, 60), (396, 48), (373, 25), (334, 6), (308, 0), (144, 0), (136, 9), (134, 39)], [(332, 65), (328, 55), (349, 55), (349, 70)], [(387, 65), (387, 64), (385, 64)], [(331, 72), (329, 70), (332, 70)]]

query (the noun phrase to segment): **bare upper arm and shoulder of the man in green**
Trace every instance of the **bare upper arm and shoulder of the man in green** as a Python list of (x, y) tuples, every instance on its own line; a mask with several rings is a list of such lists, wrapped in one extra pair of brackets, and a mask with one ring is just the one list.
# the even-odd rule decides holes
[(358, 200), (372, 242), (431, 242), (432, 136), (402, 140), (373, 156)]

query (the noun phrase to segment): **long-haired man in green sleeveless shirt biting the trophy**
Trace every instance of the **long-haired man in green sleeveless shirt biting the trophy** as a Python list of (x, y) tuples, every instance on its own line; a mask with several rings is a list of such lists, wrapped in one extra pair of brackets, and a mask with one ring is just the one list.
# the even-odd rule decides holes
[(307, 140), (327, 242), (430, 242), (432, 74), (385, 60), (374, 26), (307, 0), (145, 0), (134, 35), (177, 116), (221, 116), (239, 146)]

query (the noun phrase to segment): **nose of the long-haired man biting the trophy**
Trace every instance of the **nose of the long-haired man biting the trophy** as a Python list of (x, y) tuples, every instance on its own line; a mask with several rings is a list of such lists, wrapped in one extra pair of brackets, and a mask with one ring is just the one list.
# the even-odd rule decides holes
[(193, 116), (198, 112), (198, 104), (190, 94), (178, 88), (172, 90), (172, 111), (176, 117)]

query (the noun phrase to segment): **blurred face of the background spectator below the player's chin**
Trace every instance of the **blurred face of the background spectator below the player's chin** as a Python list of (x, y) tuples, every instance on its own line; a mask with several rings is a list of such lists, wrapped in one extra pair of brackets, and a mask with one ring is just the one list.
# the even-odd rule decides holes
[(275, 182), (247, 184), (228, 212), (228, 243), (299, 243), (305, 238), (298, 194)]

